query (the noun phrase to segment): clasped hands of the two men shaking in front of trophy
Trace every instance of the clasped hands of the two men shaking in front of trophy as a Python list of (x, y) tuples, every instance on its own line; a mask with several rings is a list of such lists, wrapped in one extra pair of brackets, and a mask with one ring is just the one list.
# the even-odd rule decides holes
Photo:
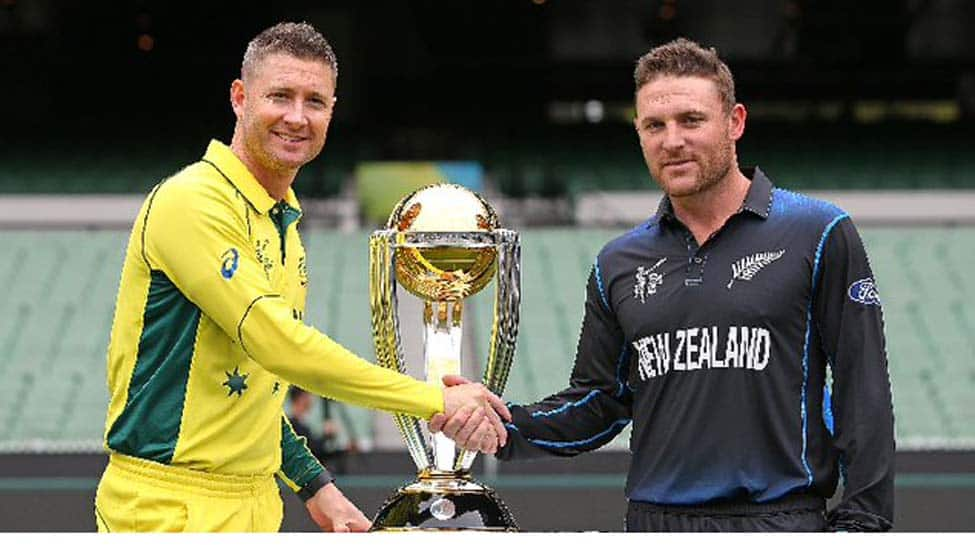
[(430, 432), (443, 432), (458, 447), (494, 454), (508, 441), (504, 422), (511, 411), (483, 384), (444, 375), (444, 413), (430, 419)]

